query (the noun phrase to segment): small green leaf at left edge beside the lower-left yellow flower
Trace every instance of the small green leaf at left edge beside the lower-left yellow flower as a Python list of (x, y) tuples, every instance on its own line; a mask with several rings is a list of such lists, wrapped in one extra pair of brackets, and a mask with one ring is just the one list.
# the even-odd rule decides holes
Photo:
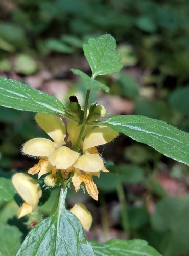
[(10, 179), (0, 177), (0, 198), (11, 201), (14, 198), (15, 189)]

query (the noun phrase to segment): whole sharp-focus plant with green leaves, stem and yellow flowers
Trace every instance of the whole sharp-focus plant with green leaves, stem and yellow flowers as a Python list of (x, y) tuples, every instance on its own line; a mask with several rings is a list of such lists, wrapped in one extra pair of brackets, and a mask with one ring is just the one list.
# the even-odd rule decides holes
[[(108, 118), (104, 106), (97, 102), (88, 106), (91, 90), (109, 92), (109, 87), (96, 80), (96, 77), (118, 72), (122, 65), (115, 39), (108, 34), (89, 39), (83, 50), (91, 67), (91, 77), (81, 70), (72, 71), (81, 77), (87, 88), (84, 109), (75, 96), (71, 96), (70, 103), (64, 106), (47, 93), (18, 81), (0, 78), (0, 105), (37, 112), (36, 122), (51, 138), (33, 138), (23, 145), (24, 154), (39, 158), (28, 173), (38, 174), (38, 178), (45, 177), (44, 186), (49, 190), (54, 187), (60, 190), (50, 216), (41, 220), (38, 212), (42, 195), (40, 185), (28, 174), (13, 175), (12, 183), (24, 201), (19, 209), (19, 218), (29, 215), (31, 223), (38, 222), (28, 233), (17, 255), (160, 255), (140, 239), (113, 239), (105, 244), (87, 241), (82, 226), (87, 230), (90, 228), (90, 212), (79, 202), (70, 211), (66, 209), (66, 194), (72, 185), (76, 192), (82, 187), (93, 199), (98, 200), (98, 188), (93, 176), (100, 179), (101, 172), (107, 176), (109, 174), (96, 147), (111, 142), (119, 133), (189, 165), (188, 133), (145, 116)], [(62, 117), (68, 119), (67, 127)], [(65, 139), (66, 131), (68, 139)], [(2, 197), (6, 200), (11, 193), (14, 193), (13, 188), (7, 184)]]

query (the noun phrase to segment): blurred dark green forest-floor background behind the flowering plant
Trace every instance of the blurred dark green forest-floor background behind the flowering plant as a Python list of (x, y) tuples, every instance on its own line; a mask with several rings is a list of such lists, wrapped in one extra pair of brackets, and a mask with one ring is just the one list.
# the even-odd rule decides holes
[[(0, 10), (1, 76), (64, 104), (74, 94), (82, 105), (86, 91), (70, 68), (90, 75), (82, 45), (110, 33), (124, 68), (100, 77), (110, 94), (95, 91), (90, 102), (97, 100), (111, 115), (145, 115), (189, 132), (187, 0), (1, 0)], [(25, 225), (27, 218), (16, 218), (21, 199), (10, 177), (36, 163), (20, 152), (28, 139), (45, 136), (33, 118), (33, 113), (0, 109), (0, 241), (10, 246), (6, 256), (16, 253), (31, 228), (31, 220)], [(99, 201), (81, 189), (70, 190), (67, 200), (68, 207), (83, 202), (91, 211), (87, 238), (141, 238), (163, 255), (189, 255), (188, 167), (121, 135), (100, 151), (110, 173), (96, 179)], [(1, 200), (5, 186), (10, 188), (6, 201)], [(57, 189), (51, 195), (44, 191), (42, 216), (49, 215), (56, 195)]]

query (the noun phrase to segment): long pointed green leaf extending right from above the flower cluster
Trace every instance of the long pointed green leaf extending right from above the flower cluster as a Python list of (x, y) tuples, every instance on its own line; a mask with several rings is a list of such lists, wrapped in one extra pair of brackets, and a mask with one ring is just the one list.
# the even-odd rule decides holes
[(167, 157), (189, 165), (189, 134), (164, 121), (145, 116), (113, 116), (107, 123), (112, 129), (147, 144)]

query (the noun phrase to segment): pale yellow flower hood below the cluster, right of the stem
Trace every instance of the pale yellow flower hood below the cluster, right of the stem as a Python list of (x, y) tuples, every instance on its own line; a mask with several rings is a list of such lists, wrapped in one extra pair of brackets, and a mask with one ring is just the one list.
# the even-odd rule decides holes
[(80, 220), (83, 228), (89, 230), (92, 224), (92, 215), (84, 204), (75, 204), (74, 207), (70, 209), (70, 212), (72, 212), (72, 214), (74, 214)]

